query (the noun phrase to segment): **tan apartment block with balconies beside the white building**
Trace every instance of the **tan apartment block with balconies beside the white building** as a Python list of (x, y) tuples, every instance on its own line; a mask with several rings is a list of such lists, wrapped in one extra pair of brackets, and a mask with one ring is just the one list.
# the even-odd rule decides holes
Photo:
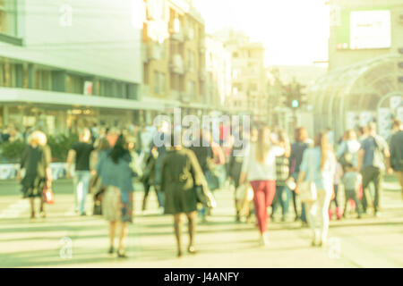
[(205, 31), (189, 0), (145, 0), (142, 95), (166, 103), (166, 112), (207, 108)]

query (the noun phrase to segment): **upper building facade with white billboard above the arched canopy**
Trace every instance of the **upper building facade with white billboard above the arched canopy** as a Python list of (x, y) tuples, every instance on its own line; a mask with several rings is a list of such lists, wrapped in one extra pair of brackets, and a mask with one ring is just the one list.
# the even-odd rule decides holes
[(330, 0), (329, 70), (397, 53), (403, 46), (400, 0)]

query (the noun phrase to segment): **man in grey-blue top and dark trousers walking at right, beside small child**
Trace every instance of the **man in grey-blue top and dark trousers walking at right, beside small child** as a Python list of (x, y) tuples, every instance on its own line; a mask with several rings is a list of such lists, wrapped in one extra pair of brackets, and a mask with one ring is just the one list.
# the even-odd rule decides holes
[(381, 216), (380, 201), (381, 201), (381, 185), (383, 173), (386, 171), (386, 164), (390, 166), (390, 150), (385, 139), (382, 139), (376, 133), (376, 124), (370, 122), (368, 124), (369, 136), (364, 139), (361, 144), (361, 149), (358, 152), (358, 164), (357, 169), (361, 171), (363, 175), (363, 198), (362, 205), (363, 211), (366, 213), (368, 207), (367, 195), (365, 189), (369, 186), (370, 182), (373, 182), (375, 190), (375, 198), (373, 199), (374, 215)]

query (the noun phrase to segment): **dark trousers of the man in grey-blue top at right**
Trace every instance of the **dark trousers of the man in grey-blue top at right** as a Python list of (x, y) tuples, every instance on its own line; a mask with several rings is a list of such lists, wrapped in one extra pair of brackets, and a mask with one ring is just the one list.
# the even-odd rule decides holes
[(366, 192), (365, 189), (368, 187), (370, 182), (373, 182), (373, 186), (375, 187), (375, 198), (373, 199), (373, 208), (375, 212), (380, 210), (380, 201), (381, 201), (381, 183), (382, 183), (382, 172), (380, 168), (369, 166), (364, 168), (363, 172), (363, 210), (366, 212), (366, 208), (368, 206)]

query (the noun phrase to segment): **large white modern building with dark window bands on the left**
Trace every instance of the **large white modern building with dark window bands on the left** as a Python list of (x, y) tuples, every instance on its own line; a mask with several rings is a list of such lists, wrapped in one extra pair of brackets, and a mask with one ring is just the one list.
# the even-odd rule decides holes
[(49, 133), (132, 122), (141, 98), (142, 0), (0, 1), (0, 125)]

